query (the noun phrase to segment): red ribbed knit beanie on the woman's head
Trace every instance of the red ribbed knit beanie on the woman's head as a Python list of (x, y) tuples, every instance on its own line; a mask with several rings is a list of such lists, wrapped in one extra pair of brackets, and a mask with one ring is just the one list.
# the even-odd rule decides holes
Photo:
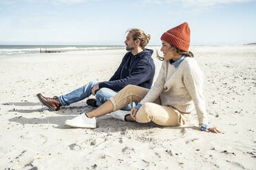
[(168, 42), (170, 45), (182, 49), (183, 51), (189, 51), (190, 42), (190, 29), (188, 23), (182, 23), (177, 27), (169, 29), (161, 36), (161, 40)]

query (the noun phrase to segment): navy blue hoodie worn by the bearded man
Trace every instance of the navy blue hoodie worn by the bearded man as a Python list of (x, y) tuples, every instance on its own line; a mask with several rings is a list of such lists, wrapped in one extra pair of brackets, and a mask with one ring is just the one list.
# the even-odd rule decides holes
[(135, 56), (131, 51), (127, 52), (116, 73), (108, 82), (100, 82), (99, 88), (105, 87), (119, 91), (128, 84), (151, 88), (155, 75), (152, 53), (152, 49), (145, 49)]

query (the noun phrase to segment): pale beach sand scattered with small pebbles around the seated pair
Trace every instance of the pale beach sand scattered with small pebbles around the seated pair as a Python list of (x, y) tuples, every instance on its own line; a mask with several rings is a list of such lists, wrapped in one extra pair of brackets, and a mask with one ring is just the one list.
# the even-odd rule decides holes
[(125, 49), (0, 56), (0, 169), (256, 169), (256, 46), (191, 51), (204, 72), (210, 122), (222, 134), (200, 131), (195, 112), (180, 127), (107, 114), (96, 129), (70, 128), (66, 119), (93, 109), (86, 99), (50, 112), (36, 98), (109, 80)]

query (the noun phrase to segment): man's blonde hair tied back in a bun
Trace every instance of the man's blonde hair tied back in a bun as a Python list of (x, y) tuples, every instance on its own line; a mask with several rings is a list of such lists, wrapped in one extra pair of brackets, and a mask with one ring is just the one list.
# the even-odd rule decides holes
[(128, 29), (127, 32), (132, 33), (132, 38), (134, 40), (140, 40), (140, 47), (142, 49), (145, 49), (146, 45), (149, 43), (150, 40), (150, 34), (145, 34), (144, 31), (137, 28)]

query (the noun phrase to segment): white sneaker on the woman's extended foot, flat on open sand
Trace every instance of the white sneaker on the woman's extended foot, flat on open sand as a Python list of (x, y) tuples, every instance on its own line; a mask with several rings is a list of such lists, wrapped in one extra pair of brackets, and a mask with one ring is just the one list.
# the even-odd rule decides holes
[(96, 128), (96, 118), (88, 118), (85, 113), (71, 120), (66, 120), (65, 125), (70, 127)]

